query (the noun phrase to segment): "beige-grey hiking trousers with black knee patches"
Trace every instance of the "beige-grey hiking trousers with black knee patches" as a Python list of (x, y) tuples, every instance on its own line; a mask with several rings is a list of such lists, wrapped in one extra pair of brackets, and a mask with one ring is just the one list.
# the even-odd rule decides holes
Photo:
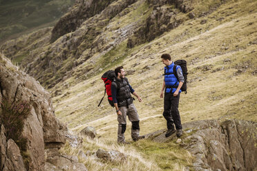
[(136, 139), (139, 137), (140, 133), (140, 126), (139, 121), (140, 118), (137, 114), (137, 110), (135, 109), (135, 105), (132, 103), (131, 105), (121, 106), (119, 107), (120, 112), (122, 115), (117, 115), (118, 124), (118, 131), (117, 131), (117, 141), (119, 143), (125, 142), (124, 133), (126, 131), (126, 116), (128, 116), (128, 120), (131, 121), (131, 137), (132, 139)]

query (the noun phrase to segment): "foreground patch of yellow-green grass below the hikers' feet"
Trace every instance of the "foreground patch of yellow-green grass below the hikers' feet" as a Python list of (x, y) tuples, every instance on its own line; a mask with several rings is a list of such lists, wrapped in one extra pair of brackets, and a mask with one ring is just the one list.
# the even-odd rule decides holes
[[(94, 158), (95, 152), (102, 150), (117, 150), (126, 155), (126, 161), (122, 163), (104, 161)], [(118, 168), (120, 170), (184, 170), (191, 169), (193, 158), (191, 154), (180, 145), (171, 141), (169, 143), (154, 143), (146, 139), (140, 140), (131, 145), (118, 145), (113, 140), (95, 138), (94, 140), (84, 137), (81, 148), (71, 148), (67, 142), (61, 152), (66, 154), (77, 154), (79, 150), (88, 154), (88, 158), (79, 158), (79, 161), (86, 165), (88, 170), (108, 170)]]

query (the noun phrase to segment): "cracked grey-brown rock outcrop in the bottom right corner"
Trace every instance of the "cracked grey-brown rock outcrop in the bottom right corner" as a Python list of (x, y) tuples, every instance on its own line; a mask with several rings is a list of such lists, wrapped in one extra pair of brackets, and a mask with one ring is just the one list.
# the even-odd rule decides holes
[[(181, 145), (189, 150), (195, 170), (256, 170), (257, 123), (238, 120), (207, 120), (183, 124)], [(164, 130), (148, 134), (164, 141)], [(171, 141), (172, 138), (166, 139)]]

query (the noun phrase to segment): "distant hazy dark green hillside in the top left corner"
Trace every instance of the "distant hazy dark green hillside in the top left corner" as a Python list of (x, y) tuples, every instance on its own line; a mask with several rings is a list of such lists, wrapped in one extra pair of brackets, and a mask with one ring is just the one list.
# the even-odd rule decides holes
[[(54, 26), (74, 0), (23, 0), (0, 2), (0, 43), (42, 27)], [(26, 32), (27, 31), (27, 32)]]

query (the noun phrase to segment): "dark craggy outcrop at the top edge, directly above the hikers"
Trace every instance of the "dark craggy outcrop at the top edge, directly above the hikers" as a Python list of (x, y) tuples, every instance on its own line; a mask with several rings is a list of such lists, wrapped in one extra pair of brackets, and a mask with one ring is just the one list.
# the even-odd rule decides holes
[[(184, 13), (193, 10), (191, 1), (187, 0), (148, 0), (148, 3), (150, 7), (153, 6), (153, 11), (146, 19), (144, 25), (128, 39), (128, 48), (133, 48), (135, 45), (145, 43), (146, 41), (152, 41), (164, 32), (180, 26), (183, 19), (177, 19), (176, 14), (178, 10)], [(175, 8), (169, 5), (174, 5)]]

